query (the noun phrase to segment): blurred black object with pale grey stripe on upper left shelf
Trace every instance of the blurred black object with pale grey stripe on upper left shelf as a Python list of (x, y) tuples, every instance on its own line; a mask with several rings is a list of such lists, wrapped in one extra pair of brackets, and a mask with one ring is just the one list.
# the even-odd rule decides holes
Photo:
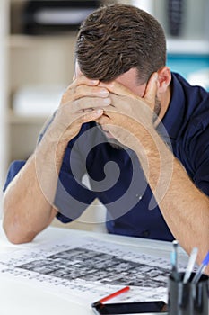
[(77, 30), (99, 6), (99, 0), (29, 0), (22, 12), (23, 32), (39, 35)]

